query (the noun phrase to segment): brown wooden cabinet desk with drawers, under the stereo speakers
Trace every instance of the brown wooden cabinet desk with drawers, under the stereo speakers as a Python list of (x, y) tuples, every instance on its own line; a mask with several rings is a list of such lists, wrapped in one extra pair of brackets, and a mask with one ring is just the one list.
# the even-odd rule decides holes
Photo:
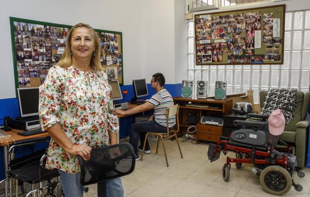
[[(188, 124), (188, 116), (199, 115), (199, 121), (202, 116), (220, 116), (231, 112), (232, 99), (216, 100), (216, 99), (191, 99), (183, 97), (174, 97), (174, 104), (180, 105), (179, 125), (183, 133), (186, 133)], [(196, 141), (219, 141), (222, 135), (222, 127), (213, 125), (197, 124)]]

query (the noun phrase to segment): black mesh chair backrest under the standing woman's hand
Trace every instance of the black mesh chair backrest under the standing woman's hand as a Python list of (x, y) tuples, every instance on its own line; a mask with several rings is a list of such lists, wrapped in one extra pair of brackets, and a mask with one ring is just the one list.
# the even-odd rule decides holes
[(105, 182), (132, 173), (135, 169), (135, 152), (128, 143), (93, 148), (88, 161), (78, 156), (83, 186)]

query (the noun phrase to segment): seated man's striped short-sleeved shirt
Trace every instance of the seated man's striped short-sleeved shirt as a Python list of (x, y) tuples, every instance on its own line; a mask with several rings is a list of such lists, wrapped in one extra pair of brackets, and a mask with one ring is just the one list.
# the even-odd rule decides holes
[[(174, 105), (171, 94), (163, 88), (154, 94), (148, 102), (154, 105), (154, 120), (156, 123), (166, 127), (166, 109)], [(169, 117), (168, 124), (169, 128), (175, 125), (175, 116)]]

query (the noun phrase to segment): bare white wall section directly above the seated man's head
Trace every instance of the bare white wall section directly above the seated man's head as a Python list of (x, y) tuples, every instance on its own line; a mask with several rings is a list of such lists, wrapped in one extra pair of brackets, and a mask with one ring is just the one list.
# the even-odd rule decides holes
[(141, 63), (145, 77), (161, 72), (174, 83), (174, 0), (143, 0)]

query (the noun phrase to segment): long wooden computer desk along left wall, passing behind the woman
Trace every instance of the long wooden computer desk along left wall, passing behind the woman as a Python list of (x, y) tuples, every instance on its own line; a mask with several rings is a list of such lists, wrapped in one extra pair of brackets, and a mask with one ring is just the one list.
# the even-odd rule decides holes
[[(128, 107), (134, 108), (137, 107), (137, 105), (134, 104), (129, 104)], [(149, 111), (149, 110), (153, 110), (153, 107), (150, 107), (144, 111)], [(117, 115), (118, 120), (120, 121), (120, 118), (126, 117), (128, 115)], [(10, 137), (6, 137), (6, 138), (0, 138), (0, 146), (2, 147), (2, 151), (3, 151), (3, 166), (4, 166), (4, 177), (7, 178), (7, 170), (8, 170), (8, 145), (12, 144), (15, 141), (19, 141), (22, 139), (30, 139), (30, 138), (35, 138), (35, 137), (48, 137), (50, 136), (48, 132), (44, 132), (44, 133), (40, 133), (40, 134), (35, 134), (35, 135), (29, 135), (29, 136), (22, 136), (22, 135), (18, 135), (17, 132), (19, 132), (20, 130), (15, 130), (12, 129), (12, 131), (5, 131), (7, 134), (11, 135), (12, 139)], [(14, 140), (13, 140), (14, 139)], [(119, 132), (117, 133), (117, 142), (119, 143)], [(8, 145), (7, 145), (8, 143)]]

